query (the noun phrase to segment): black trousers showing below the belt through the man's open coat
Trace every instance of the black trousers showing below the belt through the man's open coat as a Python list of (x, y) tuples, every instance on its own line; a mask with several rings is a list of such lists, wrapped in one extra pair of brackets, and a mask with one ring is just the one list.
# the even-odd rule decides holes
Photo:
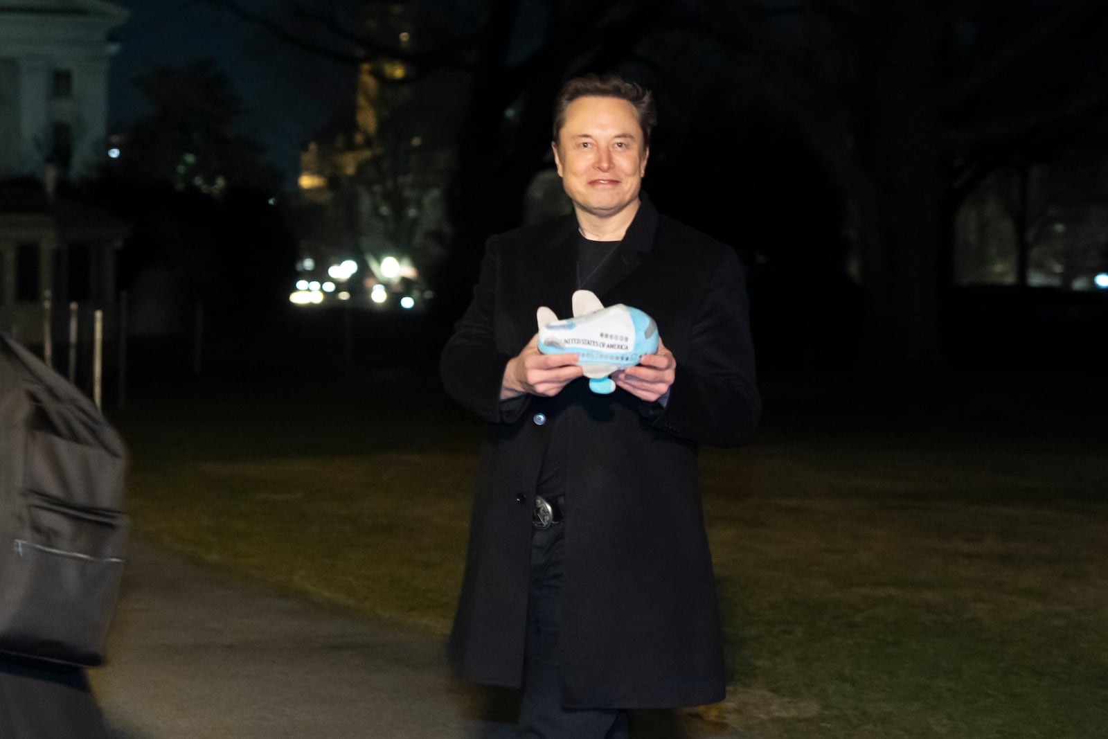
[(558, 615), (565, 523), (535, 530), (531, 540), (531, 594), (524, 653), (520, 737), (526, 739), (626, 739), (627, 714), (562, 707)]

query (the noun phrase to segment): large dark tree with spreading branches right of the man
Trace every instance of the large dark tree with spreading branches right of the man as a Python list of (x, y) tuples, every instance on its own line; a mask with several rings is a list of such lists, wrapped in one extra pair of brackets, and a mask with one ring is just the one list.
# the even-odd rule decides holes
[[(955, 205), (984, 174), (1108, 102), (1095, 0), (719, 3), (835, 183), (880, 371), (941, 363)], [(1102, 28), (1100, 25), (1099, 28)], [(1091, 65), (1089, 62), (1094, 62)]]

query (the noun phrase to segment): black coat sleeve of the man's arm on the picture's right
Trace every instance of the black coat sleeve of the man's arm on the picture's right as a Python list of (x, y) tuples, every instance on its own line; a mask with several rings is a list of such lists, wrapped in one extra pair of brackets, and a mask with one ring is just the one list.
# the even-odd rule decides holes
[(688, 349), (676, 358), (666, 406), (655, 403), (644, 412), (655, 428), (681, 439), (730, 447), (753, 432), (761, 399), (742, 265), (732, 249), (720, 254), (699, 300)]

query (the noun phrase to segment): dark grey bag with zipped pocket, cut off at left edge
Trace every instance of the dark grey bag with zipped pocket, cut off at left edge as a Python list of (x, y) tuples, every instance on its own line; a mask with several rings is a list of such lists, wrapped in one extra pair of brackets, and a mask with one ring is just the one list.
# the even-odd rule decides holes
[(95, 404), (0, 333), (0, 653), (103, 661), (130, 520)]

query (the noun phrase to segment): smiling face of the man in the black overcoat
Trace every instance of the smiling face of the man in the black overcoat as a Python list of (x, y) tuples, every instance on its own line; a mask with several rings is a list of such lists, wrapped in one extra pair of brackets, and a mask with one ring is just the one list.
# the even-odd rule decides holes
[(612, 216), (638, 202), (649, 154), (635, 106), (618, 97), (578, 97), (565, 110), (554, 162), (579, 211)]

